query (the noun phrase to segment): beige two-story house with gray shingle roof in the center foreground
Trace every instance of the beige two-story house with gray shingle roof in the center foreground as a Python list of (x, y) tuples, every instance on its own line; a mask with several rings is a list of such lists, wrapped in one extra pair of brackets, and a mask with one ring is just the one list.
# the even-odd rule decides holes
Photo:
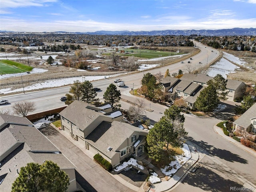
[(105, 112), (111, 109), (108, 104), (94, 107), (76, 100), (60, 112), (60, 117), (63, 130), (114, 167), (128, 156), (144, 153), (148, 132), (122, 122), (120, 110)]

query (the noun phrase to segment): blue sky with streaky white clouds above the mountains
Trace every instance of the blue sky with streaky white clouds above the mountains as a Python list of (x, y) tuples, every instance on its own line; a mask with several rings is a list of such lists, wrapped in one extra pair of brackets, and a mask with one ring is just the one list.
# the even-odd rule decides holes
[(256, 0), (0, 0), (0, 30), (256, 28)]

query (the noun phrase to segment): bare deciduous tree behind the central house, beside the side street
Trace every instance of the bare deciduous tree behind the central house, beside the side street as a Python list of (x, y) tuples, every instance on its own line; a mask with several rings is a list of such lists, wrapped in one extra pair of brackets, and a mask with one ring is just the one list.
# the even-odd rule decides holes
[(130, 114), (130, 120), (134, 120), (134, 122), (136, 122), (136, 120), (140, 119), (145, 113), (144, 107), (144, 100), (137, 98), (135, 104), (130, 106), (128, 110)]

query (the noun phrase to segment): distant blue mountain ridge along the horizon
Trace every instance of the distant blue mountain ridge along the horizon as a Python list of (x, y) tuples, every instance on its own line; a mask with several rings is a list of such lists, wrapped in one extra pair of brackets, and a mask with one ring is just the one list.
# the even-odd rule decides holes
[[(7, 32), (0, 31), (1, 33), (23, 33), (31, 34), (33, 32)], [(40, 32), (34, 32), (40, 34)], [(218, 30), (154, 30), (154, 31), (96, 31), (96, 32), (42, 32), (42, 34), (91, 34), (91, 35), (175, 35), (175, 36), (256, 36), (256, 28), (232, 28), (232, 29), (218, 29)]]

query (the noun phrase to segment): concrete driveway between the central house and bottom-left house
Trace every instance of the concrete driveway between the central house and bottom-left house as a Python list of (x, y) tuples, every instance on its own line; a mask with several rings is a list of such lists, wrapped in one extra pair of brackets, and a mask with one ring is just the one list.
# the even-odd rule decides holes
[(77, 167), (76, 180), (86, 192), (134, 192), (110, 176), (55, 128), (48, 126), (41, 132)]

